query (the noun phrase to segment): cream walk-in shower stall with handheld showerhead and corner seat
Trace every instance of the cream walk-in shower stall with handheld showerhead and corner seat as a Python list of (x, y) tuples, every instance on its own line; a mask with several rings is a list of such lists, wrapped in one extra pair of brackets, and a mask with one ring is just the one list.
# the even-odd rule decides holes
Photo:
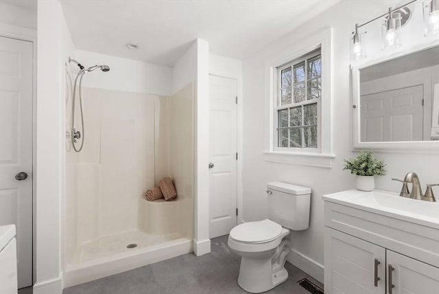
[[(65, 286), (192, 251), (193, 84), (170, 96), (83, 86), (115, 71), (66, 64)], [(143, 199), (163, 177), (178, 198)]]

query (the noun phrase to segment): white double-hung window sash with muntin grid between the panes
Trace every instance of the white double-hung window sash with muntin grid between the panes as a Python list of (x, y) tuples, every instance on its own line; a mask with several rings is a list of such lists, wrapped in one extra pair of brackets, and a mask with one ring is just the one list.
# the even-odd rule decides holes
[[(311, 60), (313, 58), (316, 58), (320, 56), (320, 67), (321, 67), (321, 71), (320, 71), (320, 84), (322, 87), (323, 84), (323, 66), (322, 66), (322, 48), (319, 46), (316, 49), (313, 49), (311, 52), (308, 52), (305, 55), (302, 56), (298, 56), (298, 58), (294, 58), (293, 60), (290, 60), (288, 63), (285, 63), (284, 65), (278, 66), (276, 67), (276, 74), (274, 77), (274, 84), (276, 85), (276, 96), (274, 97), (274, 106), (273, 106), (273, 150), (275, 151), (281, 151), (281, 152), (291, 152), (291, 151), (298, 151), (298, 152), (312, 152), (312, 153), (321, 153), (321, 125), (322, 125), (322, 120), (321, 120), (321, 101), (322, 101), (322, 89), (320, 92), (320, 98), (315, 98), (315, 99), (310, 99), (307, 100), (308, 97), (308, 82), (309, 80), (313, 80), (312, 78), (308, 78), (308, 60)], [(300, 65), (300, 63), (305, 63), (305, 100), (300, 101), (300, 102), (294, 102), (294, 66), (296, 65)], [(284, 104), (282, 105), (282, 71), (284, 69), (287, 68), (291, 68), (292, 71), (292, 102), (289, 104)], [(303, 124), (303, 120), (304, 120), (304, 109), (306, 105), (311, 105), (311, 104), (317, 104), (317, 148), (312, 148), (312, 147), (304, 147), (304, 137), (305, 137), (305, 133), (304, 130), (305, 128), (309, 127), (309, 126), (313, 126), (313, 125), (307, 125), (305, 126)], [(292, 127), (289, 125), (289, 114), (290, 114), (290, 109), (296, 108), (296, 107), (300, 107), (302, 109), (302, 123), (300, 124), (300, 126), (296, 126), (296, 127)], [(287, 127), (281, 127), (278, 126), (278, 111), (281, 110), (287, 110), (288, 111), (288, 126)], [(300, 134), (302, 136), (301, 138), (301, 145), (302, 147), (279, 147), (278, 146), (278, 142), (279, 142), (279, 135), (278, 135), (278, 130), (279, 129), (287, 129), (290, 130), (292, 128), (300, 128)], [(275, 139), (276, 137), (276, 139)], [(288, 132), (288, 142), (289, 142), (289, 132)]]

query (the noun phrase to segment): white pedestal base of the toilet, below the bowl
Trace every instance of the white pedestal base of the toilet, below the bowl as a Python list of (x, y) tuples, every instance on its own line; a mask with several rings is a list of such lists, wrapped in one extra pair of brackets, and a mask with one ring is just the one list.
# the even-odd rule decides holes
[(290, 242), (285, 238), (274, 256), (265, 258), (241, 257), (239, 286), (250, 293), (262, 293), (285, 282), (288, 279), (288, 272), (284, 265), (290, 248)]

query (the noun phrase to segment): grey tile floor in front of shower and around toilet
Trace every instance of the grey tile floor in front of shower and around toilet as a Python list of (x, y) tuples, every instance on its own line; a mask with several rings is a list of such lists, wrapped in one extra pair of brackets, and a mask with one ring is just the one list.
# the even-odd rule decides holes
[[(240, 258), (227, 246), (228, 236), (211, 240), (212, 252), (193, 253), (64, 289), (63, 294), (232, 294), (246, 293), (237, 284)], [(297, 284), (302, 278), (322, 284), (288, 262), (289, 278), (270, 294), (310, 294)], [(20, 293), (21, 294), (21, 293)]]

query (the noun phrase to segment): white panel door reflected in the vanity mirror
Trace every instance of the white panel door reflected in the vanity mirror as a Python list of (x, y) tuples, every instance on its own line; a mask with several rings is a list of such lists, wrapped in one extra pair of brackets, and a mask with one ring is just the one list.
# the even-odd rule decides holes
[(423, 86), (361, 96), (361, 142), (423, 140)]

